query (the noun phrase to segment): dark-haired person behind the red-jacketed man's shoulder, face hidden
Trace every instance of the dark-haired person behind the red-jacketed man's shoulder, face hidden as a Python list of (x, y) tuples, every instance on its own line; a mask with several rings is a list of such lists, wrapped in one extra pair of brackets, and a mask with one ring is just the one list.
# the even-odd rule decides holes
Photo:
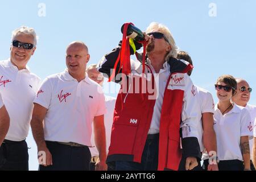
[[(177, 59), (185, 60), (191, 65), (193, 65), (191, 56), (188, 55), (185, 51), (179, 51), (177, 53)], [(191, 76), (192, 70), (188, 72), (188, 75)], [(211, 157), (213, 154), (217, 152), (217, 142), (216, 142), (216, 134), (213, 129), (213, 113), (214, 113), (214, 101), (212, 94), (210, 94), (207, 90), (200, 88), (199, 86), (193, 85), (193, 89), (191, 90), (193, 94), (196, 96), (196, 105), (195, 110), (197, 110), (198, 114), (196, 119), (196, 126), (198, 131), (198, 140), (200, 145), (200, 150), (203, 152), (204, 150), (210, 152)], [(213, 156), (214, 157), (214, 156)], [(198, 161), (200, 164), (200, 161)], [(184, 171), (185, 169), (185, 161), (184, 158), (181, 159), (179, 170)], [(201, 165), (195, 167), (193, 171), (200, 171), (203, 168)], [(208, 171), (217, 171), (218, 166), (217, 163), (210, 163), (208, 165)]]

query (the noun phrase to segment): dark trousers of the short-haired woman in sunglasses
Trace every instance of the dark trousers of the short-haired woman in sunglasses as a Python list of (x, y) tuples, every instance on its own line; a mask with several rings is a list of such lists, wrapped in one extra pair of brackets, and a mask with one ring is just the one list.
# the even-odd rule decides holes
[[(204, 160), (204, 168), (207, 170), (209, 160)], [(243, 171), (243, 162), (241, 160), (220, 160), (218, 171)]]

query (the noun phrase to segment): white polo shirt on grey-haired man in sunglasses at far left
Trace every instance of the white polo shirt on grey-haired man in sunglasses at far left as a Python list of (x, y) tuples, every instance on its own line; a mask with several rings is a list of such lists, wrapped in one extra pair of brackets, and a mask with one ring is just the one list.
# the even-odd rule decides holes
[(40, 78), (28, 68), (18, 70), (10, 59), (0, 61), (0, 93), (10, 116), (7, 140), (26, 139), (30, 128), (33, 101), (40, 85)]

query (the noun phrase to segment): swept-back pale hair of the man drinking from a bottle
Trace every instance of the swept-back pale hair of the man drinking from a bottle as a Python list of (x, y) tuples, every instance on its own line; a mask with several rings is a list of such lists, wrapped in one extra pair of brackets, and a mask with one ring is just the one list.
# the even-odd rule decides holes
[(168, 43), (171, 46), (171, 51), (166, 55), (165, 60), (167, 61), (170, 57), (177, 57), (177, 51), (179, 48), (175, 45), (175, 40), (174, 37), (172, 36), (171, 31), (168, 29), (168, 27), (164, 26), (163, 24), (152, 22), (150, 25), (147, 27), (146, 34), (157, 30), (158, 32), (164, 34), (166, 36)]

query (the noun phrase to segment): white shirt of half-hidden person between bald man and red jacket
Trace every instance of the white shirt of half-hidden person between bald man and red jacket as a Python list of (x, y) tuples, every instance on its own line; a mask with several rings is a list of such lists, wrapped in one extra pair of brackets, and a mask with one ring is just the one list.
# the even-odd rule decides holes
[[(117, 99), (114, 97), (106, 96), (105, 95), (105, 105), (106, 105), (106, 114), (104, 115), (104, 124), (105, 124), (105, 130), (106, 130), (106, 152), (108, 154), (109, 152), (109, 146), (110, 146), (110, 138), (111, 138), (111, 131), (112, 131), (112, 125), (113, 125), (113, 117), (114, 117), (114, 109), (115, 109), (115, 101)], [(98, 156), (98, 150), (95, 146), (94, 142), (94, 132), (92, 132), (92, 146), (90, 147), (90, 154), (92, 156)]]

